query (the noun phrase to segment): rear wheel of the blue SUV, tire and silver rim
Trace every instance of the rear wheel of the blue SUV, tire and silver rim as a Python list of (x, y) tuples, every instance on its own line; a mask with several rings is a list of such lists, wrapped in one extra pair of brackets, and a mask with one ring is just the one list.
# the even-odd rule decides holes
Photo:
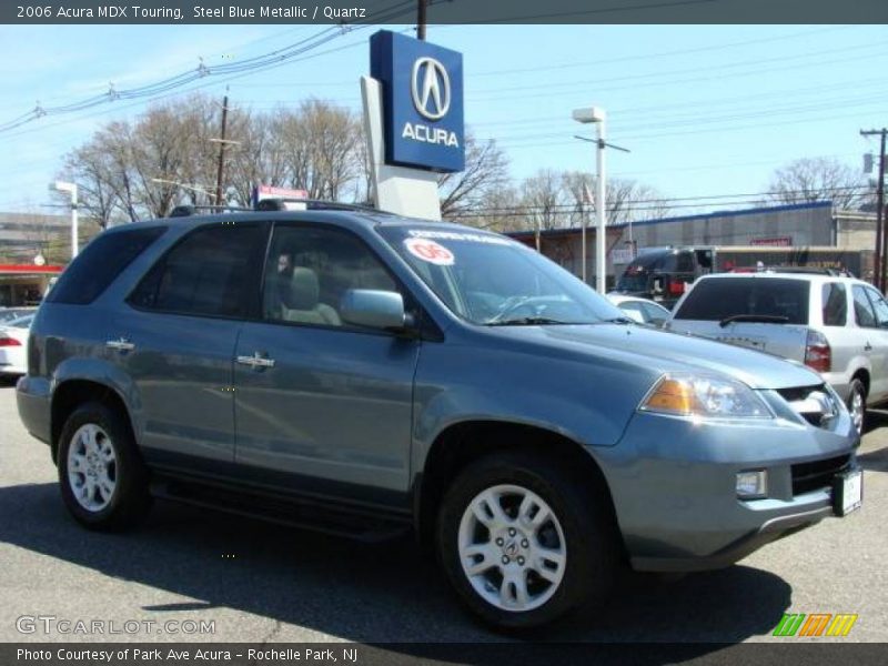
[(119, 531), (148, 513), (148, 472), (115, 411), (99, 403), (78, 407), (62, 428), (58, 461), (62, 500), (82, 525)]

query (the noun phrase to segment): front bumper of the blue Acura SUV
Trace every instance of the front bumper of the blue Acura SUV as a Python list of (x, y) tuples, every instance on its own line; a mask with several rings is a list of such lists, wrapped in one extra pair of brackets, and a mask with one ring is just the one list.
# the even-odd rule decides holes
[[(728, 566), (833, 515), (833, 466), (856, 468), (858, 443), (845, 411), (828, 430), (638, 413), (619, 444), (592, 453), (633, 567), (687, 572)], [(738, 498), (737, 473), (753, 470), (767, 471), (767, 496)]]

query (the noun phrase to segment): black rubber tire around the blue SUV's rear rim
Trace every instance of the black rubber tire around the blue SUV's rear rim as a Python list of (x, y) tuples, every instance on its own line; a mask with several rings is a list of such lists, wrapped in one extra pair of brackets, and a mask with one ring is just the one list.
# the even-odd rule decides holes
[[(84, 426), (98, 426), (98, 441), (107, 442), (114, 454), (114, 487), (103, 507), (87, 508), (74, 496), (69, 474), (69, 453), (74, 435)], [(130, 424), (119, 412), (100, 403), (87, 403), (68, 417), (59, 437), (59, 485), (62, 500), (71, 515), (83, 526), (101, 532), (119, 532), (138, 525), (151, 507), (149, 474), (142, 461)], [(85, 480), (83, 474), (78, 478)]]

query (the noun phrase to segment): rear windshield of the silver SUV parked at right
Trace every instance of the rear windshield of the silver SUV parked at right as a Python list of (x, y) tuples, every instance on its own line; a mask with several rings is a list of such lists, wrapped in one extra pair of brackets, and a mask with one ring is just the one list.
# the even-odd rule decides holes
[(685, 299), (675, 319), (722, 321), (739, 314), (785, 316), (790, 324), (808, 323), (810, 283), (780, 278), (702, 280)]

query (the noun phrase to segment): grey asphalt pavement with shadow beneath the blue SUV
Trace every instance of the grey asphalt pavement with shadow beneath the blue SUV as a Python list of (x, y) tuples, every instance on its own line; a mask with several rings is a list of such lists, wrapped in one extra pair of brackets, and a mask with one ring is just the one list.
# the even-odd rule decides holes
[[(842, 640), (888, 642), (888, 412), (870, 418), (860, 461), (865, 502), (855, 514), (723, 571), (626, 572), (602, 613), (581, 609), (531, 638), (775, 640), (784, 613), (854, 613)], [(82, 529), (9, 382), (0, 385), (0, 642), (508, 638), (465, 614), (407, 538), (364, 545), (167, 502), (134, 532)]]

